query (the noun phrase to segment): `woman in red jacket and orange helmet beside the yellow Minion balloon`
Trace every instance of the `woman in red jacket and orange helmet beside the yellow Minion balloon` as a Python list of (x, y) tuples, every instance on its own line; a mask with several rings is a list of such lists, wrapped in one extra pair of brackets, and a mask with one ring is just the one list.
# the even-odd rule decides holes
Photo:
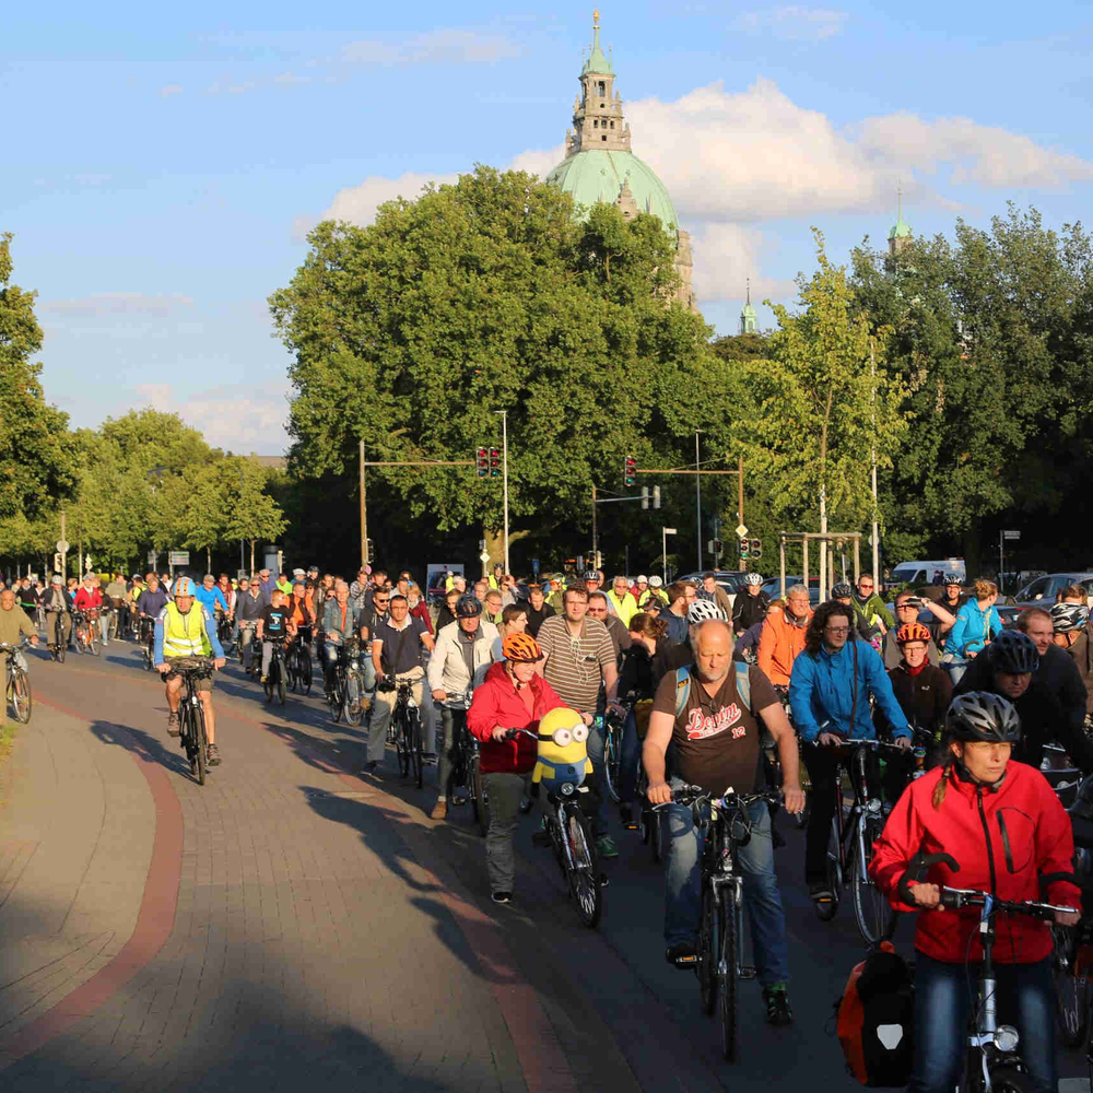
[(490, 795), (485, 867), (493, 902), (508, 903), (516, 877), (513, 835), (520, 823), (520, 798), (527, 792), (538, 748), (529, 737), (506, 740), (505, 734), (509, 729), (534, 731), (544, 714), (565, 703), (536, 672), (543, 650), (530, 634), (509, 634), (501, 653), (505, 659), (485, 673), (474, 691), (467, 728), (482, 741), (480, 761)]

